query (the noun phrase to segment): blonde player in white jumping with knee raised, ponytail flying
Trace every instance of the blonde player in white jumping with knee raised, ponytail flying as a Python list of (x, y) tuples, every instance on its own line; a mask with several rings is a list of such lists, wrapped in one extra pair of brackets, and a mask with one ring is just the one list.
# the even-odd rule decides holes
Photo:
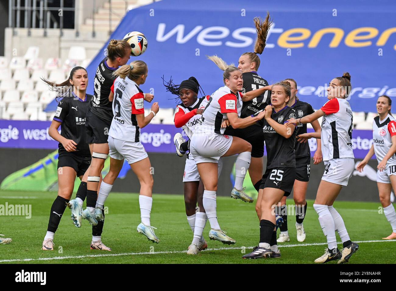
[[(223, 244), (235, 244), (235, 240), (222, 231), (217, 221), (216, 191), (217, 191), (217, 164), (220, 157), (239, 154), (236, 159), (236, 183), (243, 183), (246, 170), (249, 168), (251, 145), (238, 137), (224, 134), (222, 122), (228, 119), (233, 128), (244, 128), (264, 117), (264, 112), (246, 118), (239, 118), (242, 108), (243, 80), (242, 72), (233, 64), (228, 65), (217, 56), (208, 57), (223, 73), (224, 86), (213, 93), (206, 105), (200, 124), (196, 126), (190, 143), (190, 154), (194, 157), (198, 172), (204, 183), (203, 205), (208, 216), (211, 230), (209, 238), (219, 240)], [(234, 195), (246, 195), (242, 189), (233, 189)], [(199, 241), (205, 224), (196, 219), (194, 238), (187, 254), (199, 253)]]

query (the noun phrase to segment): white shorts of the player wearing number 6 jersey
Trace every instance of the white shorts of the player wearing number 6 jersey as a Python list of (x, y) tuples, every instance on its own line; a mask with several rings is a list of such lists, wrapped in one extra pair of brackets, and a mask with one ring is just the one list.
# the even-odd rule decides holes
[(148, 157), (141, 142), (126, 142), (111, 136), (109, 136), (107, 141), (109, 142), (109, 154), (113, 159), (125, 159), (128, 164), (133, 164)]

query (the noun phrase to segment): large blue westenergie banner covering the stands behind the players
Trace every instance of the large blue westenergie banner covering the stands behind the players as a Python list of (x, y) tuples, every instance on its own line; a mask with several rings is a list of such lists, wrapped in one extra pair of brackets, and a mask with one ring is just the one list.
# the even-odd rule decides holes
[[(267, 11), (274, 23), (258, 73), (270, 84), (295, 79), (301, 100), (318, 109), (327, 101), (331, 79), (349, 72), (353, 111), (375, 112), (382, 94), (396, 101), (394, 1), (164, 0), (130, 10), (109, 40), (131, 31), (145, 34), (147, 51), (130, 61), (147, 62), (141, 89), (154, 92), (160, 108), (172, 108), (175, 101), (169, 100), (173, 96), (166, 93), (161, 77), (179, 84), (195, 76), (206, 94), (213, 93), (223, 86), (223, 72), (206, 55), (237, 64), (242, 53), (253, 51), (253, 17), (264, 18)], [(90, 94), (109, 40), (87, 68)]]

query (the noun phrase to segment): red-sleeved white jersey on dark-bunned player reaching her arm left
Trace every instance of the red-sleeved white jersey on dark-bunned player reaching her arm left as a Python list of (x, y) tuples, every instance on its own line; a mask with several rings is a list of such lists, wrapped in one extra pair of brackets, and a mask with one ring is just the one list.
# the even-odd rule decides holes
[(322, 120), (323, 161), (354, 158), (352, 151), (352, 109), (349, 102), (333, 98), (320, 108), (326, 115)]

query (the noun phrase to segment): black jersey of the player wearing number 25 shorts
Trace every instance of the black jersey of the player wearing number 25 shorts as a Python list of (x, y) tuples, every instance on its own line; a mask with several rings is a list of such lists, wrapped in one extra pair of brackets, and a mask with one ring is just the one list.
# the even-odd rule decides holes
[[(296, 115), (290, 107), (275, 112), (272, 110), (271, 118), (279, 124), (285, 124), (287, 119), (296, 118)], [(295, 168), (296, 159), (294, 154), (294, 142), (296, 131), (289, 138), (284, 138), (276, 132), (264, 119), (264, 140), (267, 149), (267, 169), (290, 167)]]

